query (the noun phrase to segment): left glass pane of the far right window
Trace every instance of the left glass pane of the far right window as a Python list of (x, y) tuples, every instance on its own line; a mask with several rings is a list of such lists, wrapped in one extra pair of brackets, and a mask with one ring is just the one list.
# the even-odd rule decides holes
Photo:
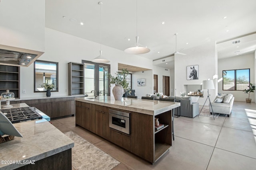
[(223, 71), (223, 90), (235, 90), (235, 70)]

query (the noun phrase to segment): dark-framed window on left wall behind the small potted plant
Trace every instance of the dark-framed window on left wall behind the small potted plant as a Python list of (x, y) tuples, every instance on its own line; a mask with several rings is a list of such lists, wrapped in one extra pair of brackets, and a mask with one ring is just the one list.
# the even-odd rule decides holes
[(52, 92), (58, 92), (58, 63), (36, 60), (34, 62), (34, 92), (45, 92), (42, 84), (52, 84)]

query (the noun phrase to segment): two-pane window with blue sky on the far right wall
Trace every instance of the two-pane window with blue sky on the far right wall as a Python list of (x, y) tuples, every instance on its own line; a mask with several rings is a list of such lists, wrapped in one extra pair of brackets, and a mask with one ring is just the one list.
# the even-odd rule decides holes
[(244, 90), (250, 83), (250, 68), (240, 70), (224, 70), (223, 90)]

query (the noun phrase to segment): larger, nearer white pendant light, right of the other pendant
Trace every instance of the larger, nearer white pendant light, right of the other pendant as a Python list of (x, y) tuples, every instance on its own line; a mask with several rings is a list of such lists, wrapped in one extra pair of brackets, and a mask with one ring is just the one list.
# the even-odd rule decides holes
[(139, 37), (138, 37), (138, 0), (136, 0), (136, 47), (130, 47), (125, 49), (124, 52), (128, 54), (145, 54), (150, 52), (150, 49), (146, 47), (139, 47)]

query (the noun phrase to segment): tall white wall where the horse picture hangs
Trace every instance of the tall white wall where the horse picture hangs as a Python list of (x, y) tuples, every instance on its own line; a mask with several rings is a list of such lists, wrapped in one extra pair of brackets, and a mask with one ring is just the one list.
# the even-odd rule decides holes
[[(215, 42), (206, 43), (198, 47), (187, 49), (182, 51), (187, 55), (175, 55), (174, 66), (174, 88), (176, 88), (176, 95), (180, 96), (180, 92), (183, 92), (184, 85), (187, 84), (202, 84), (203, 80), (210, 78), (213, 80), (213, 76), (216, 74), (216, 47)], [(186, 67), (198, 65), (199, 79), (187, 80)], [(217, 82), (214, 79), (215, 82)], [(214, 90), (209, 90), (210, 100), (213, 101), (217, 94), (218, 84), (215, 84)], [(207, 93), (204, 93), (204, 98), (199, 98), (198, 102), (203, 105), (207, 97)], [(206, 104), (208, 105), (208, 101)]]

